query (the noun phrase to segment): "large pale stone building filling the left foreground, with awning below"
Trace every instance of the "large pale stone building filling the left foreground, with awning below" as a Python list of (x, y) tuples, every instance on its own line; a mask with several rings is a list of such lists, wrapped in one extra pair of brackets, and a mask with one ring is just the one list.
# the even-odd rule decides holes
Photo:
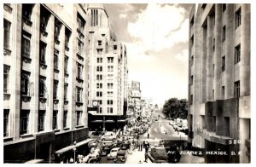
[(4, 163), (66, 161), (88, 142), (86, 10), (3, 4)]

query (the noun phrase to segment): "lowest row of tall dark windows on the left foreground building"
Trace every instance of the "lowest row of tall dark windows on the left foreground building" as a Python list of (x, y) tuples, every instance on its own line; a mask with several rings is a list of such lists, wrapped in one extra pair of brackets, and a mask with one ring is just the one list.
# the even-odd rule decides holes
[[(3, 110), (3, 136), (9, 136), (9, 109)], [(45, 124), (46, 124), (46, 111), (45, 110), (39, 110), (38, 111), (38, 132), (45, 130)], [(26, 135), (31, 133), (31, 124), (32, 124), (32, 118), (31, 117), (31, 111), (30, 110), (21, 110), (20, 111), (20, 135)], [(59, 128), (59, 119), (58, 119), (58, 110), (53, 111), (52, 115), (52, 130), (60, 130)], [(76, 111), (76, 126), (83, 125), (83, 112), (82, 111)], [(63, 111), (63, 119), (62, 119), (63, 128), (67, 129), (68, 124), (68, 111)]]

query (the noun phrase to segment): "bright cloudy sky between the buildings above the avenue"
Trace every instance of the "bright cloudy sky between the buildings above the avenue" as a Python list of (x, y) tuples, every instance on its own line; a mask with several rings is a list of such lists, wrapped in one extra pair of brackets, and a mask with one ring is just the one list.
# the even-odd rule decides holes
[(125, 43), (129, 80), (160, 106), (188, 96), (189, 11), (192, 4), (104, 4), (114, 32)]

